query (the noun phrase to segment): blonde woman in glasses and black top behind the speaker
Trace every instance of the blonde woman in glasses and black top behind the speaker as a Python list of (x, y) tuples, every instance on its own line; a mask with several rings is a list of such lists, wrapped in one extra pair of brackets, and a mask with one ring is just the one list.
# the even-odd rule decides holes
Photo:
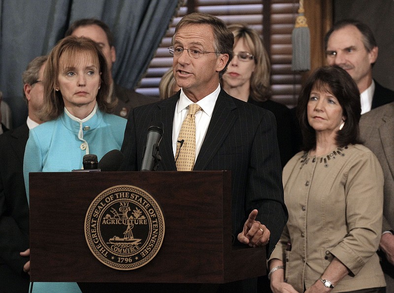
[(295, 130), (289, 108), (270, 100), (270, 63), (259, 34), (244, 25), (230, 25), (234, 57), (222, 77), (223, 89), (232, 97), (271, 111), (276, 118), (282, 167), (296, 154)]

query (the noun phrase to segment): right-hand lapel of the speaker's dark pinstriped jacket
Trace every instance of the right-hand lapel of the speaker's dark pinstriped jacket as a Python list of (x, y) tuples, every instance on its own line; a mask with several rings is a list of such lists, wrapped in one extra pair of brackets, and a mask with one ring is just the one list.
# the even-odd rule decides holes
[(204, 141), (198, 153), (194, 170), (204, 170), (216, 155), (223, 141), (228, 136), (237, 117), (233, 113), (235, 103), (232, 98), (221, 90), (212, 113)]

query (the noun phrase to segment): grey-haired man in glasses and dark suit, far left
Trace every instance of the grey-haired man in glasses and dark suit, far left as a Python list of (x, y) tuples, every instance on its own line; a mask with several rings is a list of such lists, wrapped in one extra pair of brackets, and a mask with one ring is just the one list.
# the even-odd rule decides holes
[(29, 206), (23, 158), (29, 130), (41, 124), (42, 77), (48, 57), (34, 58), (23, 72), (29, 116), (22, 126), (0, 135), (0, 292), (27, 293), (30, 278)]

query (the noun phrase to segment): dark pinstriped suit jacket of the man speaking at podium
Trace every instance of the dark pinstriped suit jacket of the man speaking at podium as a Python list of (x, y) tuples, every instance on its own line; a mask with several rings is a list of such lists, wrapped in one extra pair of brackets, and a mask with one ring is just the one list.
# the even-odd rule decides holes
[[(132, 109), (126, 126), (122, 170), (140, 170), (146, 133), (162, 121), (159, 170), (175, 171), (172, 122), (180, 92), (163, 101)], [(270, 255), (287, 222), (275, 117), (260, 107), (232, 98), (223, 90), (217, 99), (194, 170), (231, 170), (232, 231), (236, 236), (252, 209), (271, 232)]]

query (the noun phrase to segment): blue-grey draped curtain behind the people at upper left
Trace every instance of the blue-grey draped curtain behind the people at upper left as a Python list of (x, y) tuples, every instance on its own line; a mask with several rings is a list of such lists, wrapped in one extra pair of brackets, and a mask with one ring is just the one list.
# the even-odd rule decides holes
[(115, 35), (116, 83), (134, 88), (153, 58), (178, 0), (0, 0), (0, 91), (14, 128), (24, 123), (22, 72), (50, 52), (80, 18), (104, 21)]

